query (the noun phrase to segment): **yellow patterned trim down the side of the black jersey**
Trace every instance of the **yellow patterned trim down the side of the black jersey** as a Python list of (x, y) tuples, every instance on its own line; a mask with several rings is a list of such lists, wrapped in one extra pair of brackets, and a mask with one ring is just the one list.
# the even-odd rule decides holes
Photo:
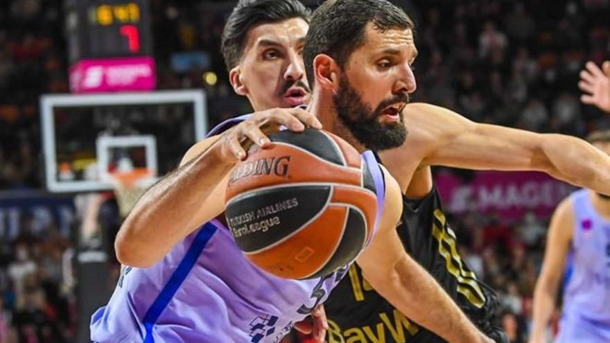
[[(439, 243), (439, 253), (445, 258), (447, 271), (455, 276), (458, 280), (458, 292), (464, 294), (464, 297), (468, 299), (477, 308), (482, 308), (485, 305), (485, 295), (476, 281), (476, 275), (473, 272), (464, 270), (462, 259), (458, 254), (458, 248), (455, 245), (455, 234), (447, 227), (445, 215), (439, 209), (434, 211), (434, 217), (439, 221), (442, 229), (433, 222), (432, 235), (437, 239)], [(443, 242), (449, 246), (447, 249)], [(457, 264), (456, 267), (453, 263)]]

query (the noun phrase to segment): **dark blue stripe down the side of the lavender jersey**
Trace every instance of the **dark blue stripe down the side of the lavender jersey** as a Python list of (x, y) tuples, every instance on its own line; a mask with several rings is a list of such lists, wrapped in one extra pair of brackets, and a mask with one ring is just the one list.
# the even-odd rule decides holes
[(153, 338), (153, 326), (155, 325), (155, 322), (157, 322), (157, 319), (159, 319), (159, 316), (163, 310), (165, 310), (169, 301), (177, 292), (178, 288), (180, 288), (180, 285), (182, 285), (186, 276), (189, 275), (195, 262), (197, 262), (197, 258), (199, 258), (199, 255), (203, 251), (203, 248), (215, 232), (216, 226), (211, 222), (207, 222), (202, 229), (199, 230), (193, 243), (191, 243), (191, 247), (189, 247), (189, 250), (184, 254), (182, 261), (180, 261), (180, 264), (165, 284), (163, 290), (161, 290), (157, 296), (157, 299), (155, 299), (155, 302), (153, 302), (153, 305), (146, 311), (146, 315), (144, 315), (143, 319), (144, 328), (146, 328), (146, 336), (144, 337), (143, 343), (155, 342), (155, 339)]

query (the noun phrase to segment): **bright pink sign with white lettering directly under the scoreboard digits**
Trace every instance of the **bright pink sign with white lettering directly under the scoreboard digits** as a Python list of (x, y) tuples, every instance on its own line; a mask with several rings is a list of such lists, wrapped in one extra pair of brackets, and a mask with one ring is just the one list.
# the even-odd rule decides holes
[(73, 93), (150, 91), (155, 89), (155, 60), (150, 57), (80, 60), (70, 68)]

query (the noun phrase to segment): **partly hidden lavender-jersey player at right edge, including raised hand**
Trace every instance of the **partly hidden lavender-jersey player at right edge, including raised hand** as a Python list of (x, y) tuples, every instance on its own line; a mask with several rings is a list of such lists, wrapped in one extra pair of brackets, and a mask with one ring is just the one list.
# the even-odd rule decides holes
[[(610, 113), (610, 62), (582, 71), (583, 103)], [(589, 136), (610, 153), (610, 131)], [(582, 189), (567, 197), (552, 216), (541, 274), (534, 290), (530, 343), (547, 342), (546, 326), (564, 276), (564, 300), (555, 342), (610, 342), (610, 200)], [(566, 262), (568, 267), (566, 268)]]

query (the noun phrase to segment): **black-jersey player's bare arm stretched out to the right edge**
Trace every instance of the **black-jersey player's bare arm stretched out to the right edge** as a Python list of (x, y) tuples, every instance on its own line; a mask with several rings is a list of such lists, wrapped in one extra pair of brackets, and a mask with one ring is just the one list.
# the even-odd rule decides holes
[(474, 123), (434, 105), (406, 107), (408, 144), (384, 152), (390, 158), (417, 155), (421, 165), (469, 169), (539, 170), (570, 184), (610, 194), (610, 157), (564, 134), (538, 134)]

